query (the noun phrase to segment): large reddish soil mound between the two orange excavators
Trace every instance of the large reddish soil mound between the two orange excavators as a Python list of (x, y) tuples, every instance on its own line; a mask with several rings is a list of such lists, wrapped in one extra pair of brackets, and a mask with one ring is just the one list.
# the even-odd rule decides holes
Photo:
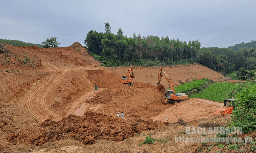
[[(134, 82), (134, 86), (114, 83), (104, 91), (97, 93), (95, 97), (87, 100), (86, 103), (99, 106), (96, 112), (116, 115), (117, 112), (123, 111), (129, 118), (129, 116), (136, 117), (135, 114), (141, 111), (159, 106), (162, 103), (162, 96), (162, 93), (156, 90), (156, 86), (148, 83)], [(160, 112), (151, 113), (158, 114)]]

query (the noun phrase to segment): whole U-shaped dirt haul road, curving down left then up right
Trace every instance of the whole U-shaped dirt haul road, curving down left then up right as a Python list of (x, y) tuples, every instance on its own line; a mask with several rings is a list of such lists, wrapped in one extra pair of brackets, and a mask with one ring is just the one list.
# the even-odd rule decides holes
[[(69, 110), (68, 114), (73, 113), (78, 106), (80, 107), (80, 105), (83, 103), (84, 100), (91, 98), (98, 91), (103, 90), (103, 89), (100, 89), (97, 91), (92, 91), (92, 92), (84, 94), (82, 97), (77, 99), (75, 102), (69, 104), (65, 108), (63, 115), (58, 115), (57, 113), (55, 113), (54, 110), (50, 109), (49, 103), (47, 101), (47, 96), (48, 96), (49, 92), (51, 91), (51, 89), (59, 83), (59, 81), (64, 77), (64, 75), (66, 74), (66, 72), (69, 69), (68, 70), (59, 69), (58, 67), (56, 67), (52, 64), (49, 64), (49, 63), (42, 62), (42, 64), (46, 65), (48, 70), (51, 70), (51, 71), (53, 69), (55, 69), (55, 70), (58, 69), (58, 70), (56, 70), (54, 73), (52, 73), (51, 76), (47, 77), (46, 80), (44, 81), (45, 82), (44, 84), (42, 84), (38, 88), (32, 90), (28, 94), (28, 97), (25, 100), (27, 103), (28, 110), (35, 116), (35, 118), (40, 120), (39, 122), (44, 122), (47, 119), (51, 119), (51, 120), (55, 120), (55, 121), (61, 120), (62, 117), (65, 117), (67, 110)], [(90, 69), (91, 68), (87, 68), (86, 70), (90, 70)], [(102, 69), (102, 68), (98, 68), (98, 69)], [(80, 69), (78, 69), (78, 70), (80, 70)], [(61, 73), (61, 71), (63, 71), (63, 72)], [(58, 73), (60, 73), (60, 74), (58, 74)], [(97, 105), (91, 106), (90, 109), (95, 108), (95, 107), (97, 107)]]

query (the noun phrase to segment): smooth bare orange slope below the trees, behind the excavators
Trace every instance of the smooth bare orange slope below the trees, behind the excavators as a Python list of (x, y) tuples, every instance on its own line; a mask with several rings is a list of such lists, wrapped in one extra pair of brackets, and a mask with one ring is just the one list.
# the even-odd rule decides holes
[[(129, 67), (105, 67), (104, 70), (110, 73), (115, 73), (118, 76), (126, 75)], [(164, 72), (172, 79), (174, 86), (178, 86), (181, 82), (193, 81), (193, 79), (208, 78), (215, 82), (221, 82), (229, 79), (221, 75), (220, 73), (213, 71), (200, 64), (187, 64), (176, 66), (154, 66), (154, 67), (133, 67), (135, 74), (135, 82), (145, 82), (151, 85), (156, 85), (158, 81), (159, 70), (163, 69)], [(169, 87), (168, 82), (162, 78), (161, 84), (165, 86), (165, 89)]]

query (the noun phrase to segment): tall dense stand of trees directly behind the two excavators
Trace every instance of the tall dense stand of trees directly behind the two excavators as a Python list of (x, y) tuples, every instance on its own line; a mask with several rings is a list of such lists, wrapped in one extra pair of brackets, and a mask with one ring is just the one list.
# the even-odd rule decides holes
[[(161, 39), (158, 36), (141, 36), (133, 34), (133, 38), (123, 36), (121, 28), (111, 33), (109, 23), (105, 23), (105, 33), (91, 30), (87, 33), (84, 44), (89, 52), (100, 58), (106, 66), (121, 66), (127, 63), (142, 66), (172, 65), (180, 61), (195, 61), (201, 47), (200, 41), (187, 42), (179, 39)], [(128, 64), (129, 65), (129, 64)]]

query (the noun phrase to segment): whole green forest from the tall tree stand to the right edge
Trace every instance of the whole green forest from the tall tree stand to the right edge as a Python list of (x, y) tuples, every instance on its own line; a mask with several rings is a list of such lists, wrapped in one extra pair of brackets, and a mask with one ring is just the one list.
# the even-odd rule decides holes
[(198, 39), (187, 43), (168, 36), (160, 39), (158, 36), (142, 37), (135, 33), (128, 38), (123, 36), (121, 28), (116, 35), (111, 33), (109, 23), (105, 23), (105, 31), (98, 33), (91, 30), (84, 41), (88, 51), (105, 66), (161, 66), (198, 62), (223, 73), (235, 72), (240, 68), (255, 70), (256, 66), (255, 48), (235, 52), (230, 48), (201, 48)]

